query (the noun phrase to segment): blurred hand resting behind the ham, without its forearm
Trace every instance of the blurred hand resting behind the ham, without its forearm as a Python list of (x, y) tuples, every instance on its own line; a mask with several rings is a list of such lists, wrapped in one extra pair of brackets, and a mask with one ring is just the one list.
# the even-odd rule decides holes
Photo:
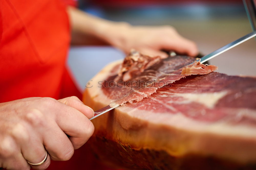
[(162, 58), (168, 55), (161, 50), (173, 50), (193, 57), (198, 54), (196, 44), (179, 35), (171, 26), (132, 27), (127, 23), (110, 24), (102, 36), (105, 41), (127, 54), (132, 48), (142, 54)]

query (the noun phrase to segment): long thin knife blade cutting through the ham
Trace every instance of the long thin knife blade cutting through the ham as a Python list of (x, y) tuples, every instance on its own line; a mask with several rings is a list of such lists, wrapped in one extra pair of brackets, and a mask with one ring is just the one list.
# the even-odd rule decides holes
[[(204, 63), (204, 62), (206, 62), (206, 61), (208, 61), (208, 60), (210, 60), (210, 59), (212, 59), (212, 58), (214, 58), (214, 57), (224, 53), (225, 51), (227, 51), (227, 50), (229, 50), (229, 49), (231, 49), (231, 48), (233, 48), (233, 47), (235, 47), (235, 46), (237, 46), (237, 45), (239, 45), (239, 44), (241, 44), (241, 43), (243, 43), (243, 42), (245, 42), (245, 41), (247, 41), (247, 40), (249, 40), (249, 39), (251, 39), (252, 37), (255, 37), (255, 36), (256, 36), (256, 31), (253, 31), (253, 32), (251, 32), (251, 33), (249, 33), (249, 34), (247, 34), (247, 35), (237, 39), (236, 41), (233, 41), (233, 42), (231, 42), (231, 43), (229, 43), (229, 44), (227, 44), (227, 45), (217, 49), (216, 51), (213, 51), (212, 53), (202, 57), (200, 59), (201, 60), (200, 62)], [(194, 62), (198, 62), (198, 61), (199, 60), (196, 60)], [(95, 117), (98, 117), (98, 116), (100, 116), (100, 115), (102, 115), (102, 114), (104, 114), (104, 113), (106, 113), (106, 112), (108, 112), (108, 111), (118, 107), (118, 106), (120, 106), (120, 105), (115, 105), (114, 107), (110, 107), (108, 105), (108, 106), (106, 106), (104, 108), (101, 108), (100, 110), (97, 110), (97, 111), (94, 112), (94, 116), (90, 120), (92, 120)]]

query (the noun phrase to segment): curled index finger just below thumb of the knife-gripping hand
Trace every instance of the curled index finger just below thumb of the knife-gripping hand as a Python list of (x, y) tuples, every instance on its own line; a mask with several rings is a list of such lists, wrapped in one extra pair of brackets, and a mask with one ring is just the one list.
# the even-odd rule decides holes
[[(61, 110), (61, 112), (60, 112)], [(56, 123), (69, 135), (74, 149), (80, 148), (92, 136), (94, 126), (92, 122), (77, 109), (59, 102), (51, 108), (56, 114)]]

